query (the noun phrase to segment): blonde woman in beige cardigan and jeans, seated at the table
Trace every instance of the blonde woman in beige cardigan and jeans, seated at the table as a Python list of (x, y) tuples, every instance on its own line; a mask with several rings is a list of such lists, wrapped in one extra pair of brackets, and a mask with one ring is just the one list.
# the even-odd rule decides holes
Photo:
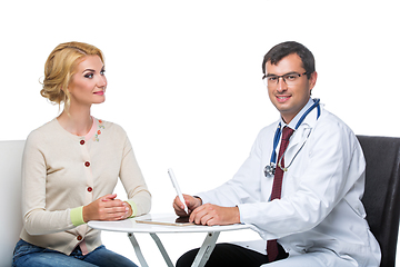
[[(120, 220), (149, 212), (151, 195), (123, 129), (94, 119), (104, 101), (102, 52), (90, 44), (59, 44), (44, 66), (41, 95), (64, 108), (33, 130), (22, 165), (24, 226), (13, 266), (136, 266), (101, 245), (89, 220)], [(129, 200), (112, 194), (120, 177)]]

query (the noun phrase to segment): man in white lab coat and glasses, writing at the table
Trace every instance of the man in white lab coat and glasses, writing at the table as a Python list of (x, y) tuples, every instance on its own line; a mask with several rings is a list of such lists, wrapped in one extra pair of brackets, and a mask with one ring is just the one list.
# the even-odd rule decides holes
[[(262, 71), (279, 120), (260, 131), (231, 180), (184, 200), (191, 221), (248, 224), (263, 240), (218, 244), (206, 266), (379, 266), (360, 200), (363, 154), (351, 129), (311, 98), (312, 53), (298, 42), (279, 43), (264, 56)], [(186, 215), (178, 197), (173, 208)], [(197, 251), (177, 266), (190, 266)]]

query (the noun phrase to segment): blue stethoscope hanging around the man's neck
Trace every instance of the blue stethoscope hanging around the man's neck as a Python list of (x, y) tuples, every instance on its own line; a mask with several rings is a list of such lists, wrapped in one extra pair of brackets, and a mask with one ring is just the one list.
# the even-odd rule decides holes
[[(313, 105), (301, 116), (301, 118), (299, 119), (299, 121), (297, 122), (296, 127), (294, 127), (294, 132), (296, 130), (299, 128), (299, 126), (301, 125), (301, 122), (306, 119), (306, 117), (317, 107), (317, 119), (320, 117), (321, 115), (321, 107), (319, 105), (320, 102), (320, 99), (319, 98), (316, 98), (316, 99), (312, 99), (314, 102)], [(278, 128), (276, 130), (276, 134), (274, 134), (274, 137), (273, 137), (273, 149), (272, 149), (272, 155), (271, 155), (271, 160), (270, 160), (270, 164), (266, 166), (264, 168), (264, 175), (266, 177), (268, 176), (274, 176), (274, 172), (276, 172), (276, 169), (277, 169), (277, 147), (278, 147), (278, 144), (279, 144), (279, 139), (280, 139), (280, 136), (281, 136), (281, 122), (279, 122), (278, 125)], [(282, 167), (281, 166), (281, 161), (282, 161), (282, 158), (286, 154), (286, 149), (282, 154), (282, 156), (279, 158), (279, 161), (278, 161), (278, 167), (281, 168), (281, 170), (283, 171), (288, 171), (288, 168), (291, 166), (291, 164), (293, 162), (294, 158), (298, 156), (298, 154), (300, 152), (300, 150), (303, 148), (303, 146), (306, 145), (307, 142), (307, 139), (308, 137), (310, 136), (311, 131), (308, 134), (304, 142), (301, 145), (300, 149), (296, 152), (296, 155), (293, 156), (292, 160), (289, 162), (289, 165), (287, 167)], [(293, 137), (293, 136), (291, 136)], [(291, 139), (290, 137), (290, 139)]]

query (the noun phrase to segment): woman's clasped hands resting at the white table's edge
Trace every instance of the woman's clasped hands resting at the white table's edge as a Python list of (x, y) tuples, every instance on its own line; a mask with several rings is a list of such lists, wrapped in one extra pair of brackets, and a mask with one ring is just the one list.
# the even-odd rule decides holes
[(117, 194), (109, 194), (84, 206), (82, 211), (84, 222), (89, 220), (120, 220), (131, 216), (130, 205), (116, 199), (116, 197)]

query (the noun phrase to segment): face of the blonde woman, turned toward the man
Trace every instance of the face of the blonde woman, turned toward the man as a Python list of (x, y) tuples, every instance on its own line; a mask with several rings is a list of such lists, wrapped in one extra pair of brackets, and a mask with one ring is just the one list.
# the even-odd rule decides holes
[(91, 106), (106, 100), (107, 79), (104, 65), (99, 56), (86, 56), (76, 67), (68, 91), (71, 97), (70, 107)]

